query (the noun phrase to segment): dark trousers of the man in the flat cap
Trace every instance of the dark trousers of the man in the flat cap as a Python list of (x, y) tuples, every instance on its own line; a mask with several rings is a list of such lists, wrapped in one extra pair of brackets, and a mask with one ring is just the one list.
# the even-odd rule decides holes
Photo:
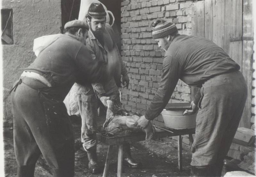
[(12, 91), (14, 152), (18, 177), (34, 176), (40, 154), (52, 168), (54, 177), (74, 176), (72, 125), (63, 102), (49, 96), (45, 92), (47, 89), (43, 83), (24, 77)]

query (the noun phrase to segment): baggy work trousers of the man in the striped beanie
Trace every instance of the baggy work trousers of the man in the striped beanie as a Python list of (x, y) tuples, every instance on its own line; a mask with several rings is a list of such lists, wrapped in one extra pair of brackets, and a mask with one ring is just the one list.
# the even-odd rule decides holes
[(200, 92), (191, 165), (222, 169), (244, 110), (247, 86), (242, 73), (235, 71), (209, 79)]

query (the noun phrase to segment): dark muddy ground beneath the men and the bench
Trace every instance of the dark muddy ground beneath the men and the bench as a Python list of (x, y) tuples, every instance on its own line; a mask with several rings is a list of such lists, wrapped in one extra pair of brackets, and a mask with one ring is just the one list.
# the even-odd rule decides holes
[[(102, 126), (104, 119), (98, 118), (98, 126)], [(81, 120), (72, 118), (72, 125), (75, 131), (75, 176), (76, 177), (99, 177), (102, 173), (93, 175), (88, 171), (88, 159), (86, 152), (80, 143)], [(6, 177), (16, 176), (16, 160), (13, 151), (12, 129), (4, 130), (4, 171)], [(182, 160), (183, 171), (178, 169), (177, 141), (161, 142), (152, 140), (149, 145), (144, 141), (131, 143), (132, 156), (135, 160), (142, 163), (141, 168), (129, 168), (123, 166), (124, 177), (169, 177), (169, 176), (189, 176), (191, 152), (183, 144)], [(108, 146), (101, 142), (97, 145), (97, 154), (100, 165), (103, 169)], [(113, 154), (109, 165), (108, 175), (114, 177), (117, 175), (117, 146), (113, 148)], [(103, 170), (102, 170), (103, 171)], [(52, 176), (50, 168), (41, 156), (36, 164), (35, 176)]]

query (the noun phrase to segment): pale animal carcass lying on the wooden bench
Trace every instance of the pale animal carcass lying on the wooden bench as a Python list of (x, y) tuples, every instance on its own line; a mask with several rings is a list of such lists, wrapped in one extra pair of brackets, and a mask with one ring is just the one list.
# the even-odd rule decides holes
[[(112, 100), (107, 100), (108, 109), (106, 121), (103, 124), (103, 129), (109, 134), (116, 134), (123, 132), (124, 130), (141, 131), (136, 127), (136, 122), (140, 118), (140, 115), (134, 111), (127, 111), (114, 105)], [(151, 122), (150, 125), (143, 129), (146, 133), (146, 141), (150, 141), (154, 135), (154, 127)]]

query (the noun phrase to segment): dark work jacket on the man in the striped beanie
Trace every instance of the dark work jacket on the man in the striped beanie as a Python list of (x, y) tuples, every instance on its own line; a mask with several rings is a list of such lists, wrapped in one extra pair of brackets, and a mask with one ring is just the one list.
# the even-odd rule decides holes
[(202, 87), (213, 76), (239, 69), (240, 66), (212, 41), (199, 36), (176, 35), (165, 53), (162, 78), (146, 111), (146, 119), (152, 120), (162, 112), (179, 79), (190, 86)]

